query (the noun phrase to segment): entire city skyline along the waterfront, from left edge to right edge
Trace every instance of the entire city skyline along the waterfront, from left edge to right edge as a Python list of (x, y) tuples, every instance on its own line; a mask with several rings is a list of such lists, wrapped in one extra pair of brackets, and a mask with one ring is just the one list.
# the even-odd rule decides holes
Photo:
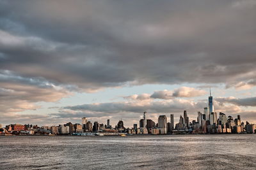
[(147, 112), (143, 113), (140, 124), (134, 124), (132, 128), (125, 128), (124, 122), (119, 120), (115, 127), (98, 122), (90, 122), (86, 117), (82, 118), (81, 124), (67, 124), (58, 126), (21, 125), (11, 124), (2, 127), (0, 124), (0, 135), (119, 135), (125, 134), (221, 134), (221, 133), (256, 133), (256, 125), (241, 122), (241, 117), (237, 118), (219, 113), (214, 110), (214, 103), (209, 96), (209, 105), (204, 108), (204, 113), (198, 111), (197, 119), (189, 122), (188, 113), (184, 110), (183, 117), (180, 115), (179, 122), (174, 124), (174, 115), (170, 114), (170, 122), (167, 121), (166, 115), (160, 115), (157, 123), (147, 119)]

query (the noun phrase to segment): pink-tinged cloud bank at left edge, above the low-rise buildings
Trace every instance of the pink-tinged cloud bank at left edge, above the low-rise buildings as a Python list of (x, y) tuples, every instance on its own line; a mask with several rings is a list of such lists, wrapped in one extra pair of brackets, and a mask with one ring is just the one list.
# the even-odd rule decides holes
[(37, 102), (55, 102), (71, 94), (65, 85), (0, 70), (1, 121), (17, 112), (40, 108)]

